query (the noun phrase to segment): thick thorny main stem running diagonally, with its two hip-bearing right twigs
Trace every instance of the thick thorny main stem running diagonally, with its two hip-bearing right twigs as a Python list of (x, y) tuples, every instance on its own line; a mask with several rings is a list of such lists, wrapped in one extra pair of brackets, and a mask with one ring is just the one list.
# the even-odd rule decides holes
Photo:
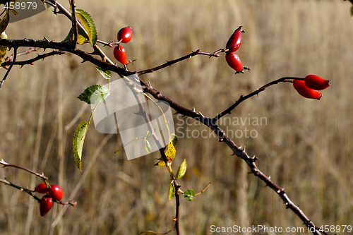
[[(104, 61), (97, 59), (94, 56), (88, 54), (87, 52), (83, 52), (80, 49), (74, 49), (71, 45), (63, 44), (60, 42), (48, 42), (47, 40), (5, 40), (5, 39), (3, 39), (3, 40), (0, 40), (0, 45), (4, 45), (7, 47), (15, 47), (15, 45), (16, 45), (17, 47), (41, 47), (41, 48), (59, 49), (63, 52), (71, 52), (72, 54), (76, 54), (81, 59), (83, 59), (83, 61), (90, 61), (92, 64), (95, 64), (96, 66), (100, 66), (103, 69), (114, 71), (115, 73), (119, 73), (124, 76), (136, 74), (136, 72), (126, 71), (124, 68), (120, 68), (118, 66), (114, 66), (113, 64), (109, 64), (107, 62), (104, 62)], [(169, 61), (166, 64), (163, 64), (161, 66), (157, 66), (155, 68), (151, 68), (151, 69), (148, 69), (145, 71), (140, 71), (137, 74), (143, 75), (145, 73), (152, 73), (152, 71), (156, 71), (156, 70), (164, 68), (166, 66), (170, 66), (170, 65), (175, 64), (175, 63), (182, 61), (184, 59), (189, 59), (191, 56), (195, 56), (197, 54), (200, 54), (199, 50), (197, 50), (196, 52), (193, 52), (189, 55), (183, 56), (179, 59), (176, 59), (174, 61)], [(206, 54), (206, 53), (203, 53), (203, 54)], [(213, 53), (210, 53), (210, 54), (213, 54)], [(210, 54), (208, 54), (208, 55), (210, 55)], [(229, 114), (229, 112), (232, 109), (234, 109), (235, 107), (237, 107), (237, 105), (240, 102), (246, 100), (249, 97), (252, 97), (253, 95), (257, 95), (259, 92), (263, 91), (269, 85), (274, 85), (274, 84), (281, 82), (282, 79), (290, 79), (290, 78), (280, 78), (280, 80), (275, 80), (272, 83), (268, 83), (267, 85), (264, 85), (262, 88), (256, 90), (255, 92), (252, 92), (249, 95), (241, 97), (236, 103), (233, 104), (234, 107), (229, 107), (229, 109), (226, 109), (225, 112), (222, 112), (222, 116), (224, 116), (225, 114)], [(284, 80), (283, 80), (283, 82), (284, 82)], [(304, 214), (304, 212), (297, 205), (292, 203), (292, 200), (289, 199), (287, 193), (285, 193), (285, 191), (282, 188), (280, 188), (280, 186), (277, 186), (277, 184), (275, 184), (270, 179), (270, 177), (266, 176), (265, 174), (263, 174), (263, 172), (260, 169), (258, 169), (258, 167), (255, 164), (255, 162), (258, 158), (257, 157), (249, 157), (249, 155), (247, 155), (247, 153), (245, 152), (245, 148), (238, 147), (225, 134), (225, 131), (223, 131), (222, 128), (217, 126), (217, 124), (215, 122), (217, 121), (217, 119), (220, 119), (221, 114), (219, 116), (215, 116), (215, 118), (205, 117), (200, 112), (197, 113), (194, 110), (186, 109), (185, 107), (182, 107), (180, 104), (177, 104), (177, 102), (170, 100), (168, 97), (165, 97), (164, 95), (162, 95), (158, 90), (151, 88), (150, 85), (145, 83), (143, 80), (140, 80), (140, 84), (141, 84), (141, 87), (143, 88), (144, 92), (150, 93), (150, 95), (155, 97), (155, 99), (167, 102), (170, 105), (170, 107), (175, 109), (179, 114), (181, 114), (183, 116), (189, 116), (193, 119), (201, 121), (201, 123), (205, 124), (205, 126), (208, 126), (211, 130), (213, 130), (215, 132), (215, 134), (217, 135), (218, 141), (226, 143), (232, 149), (234, 155), (237, 155), (237, 157), (244, 159), (244, 161), (251, 168), (251, 172), (255, 176), (257, 176), (258, 178), (260, 178), (263, 182), (265, 182), (265, 184), (268, 187), (272, 188), (273, 191), (275, 191), (277, 193), (277, 195), (279, 195), (280, 198), (282, 198), (287, 209), (292, 210), (301, 219), (301, 221), (304, 222), (306, 227), (309, 227), (309, 228), (316, 227), (315, 224), (313, 224), (313, 222), (311, 222), (311, 220)], [(178, 210), (179, 210), (179, 207), (178, 207)], [(177, 213), (177, 215), (179, 215), (179, 212)], [(316, 230), (313, 232), (313, 234), (319, 235), (319, 234), (321, 234), (321, 232), (318, 231), (318, 228), (316, 227)], [(325, 233), (323, 232), (323, 234), (325, 234)]]

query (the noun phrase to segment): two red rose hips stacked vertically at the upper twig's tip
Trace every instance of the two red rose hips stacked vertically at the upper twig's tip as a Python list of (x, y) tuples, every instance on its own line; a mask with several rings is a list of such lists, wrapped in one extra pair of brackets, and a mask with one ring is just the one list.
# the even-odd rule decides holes
[[(237, 71), (236, 73), (244, 73), (243, 64), (241, 64), (239, 56), (235, 53), (241, 46), (241, 32), (244, 32), (243, 26), (239, 26), (239, 28), (233, 32), (225, 46), (225, 48), (228, 49), (225, 54), (225, 60), (231, 68)], [(246, 69), (249, 70), (249, 68)]]

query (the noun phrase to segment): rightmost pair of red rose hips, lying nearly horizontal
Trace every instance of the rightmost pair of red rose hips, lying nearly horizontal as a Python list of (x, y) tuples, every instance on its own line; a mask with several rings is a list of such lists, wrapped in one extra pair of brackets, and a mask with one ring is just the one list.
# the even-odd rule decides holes
[(294, 80), (293, 86), (299, 95), (308, 99), (320, 100), (323, 96), (318, 90), (324, 90), (331, 85), (330, 80), (325, 80), (316, 75), (308, 75), (304, 80)]

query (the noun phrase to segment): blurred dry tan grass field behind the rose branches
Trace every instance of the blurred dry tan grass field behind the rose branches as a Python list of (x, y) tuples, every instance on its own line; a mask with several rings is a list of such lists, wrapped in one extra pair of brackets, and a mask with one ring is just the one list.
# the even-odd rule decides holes
[[(67, 1), (62, 4), (68, 7)], [(285, 188), (316, 226), (353, 226), (353, 22), (348, 1), (76, 0), (76, 6), (95, 20), (100, 40), (111, 42), (120, 28), (133, 28), (131, 42), (124, 44), (128, 59), (137, 59), (128, 65), (131, 71), (152, 68), (191, 50), (214, 52), (243, 25), (246, 33), (237, 54), (250, 73), (234, 75), (221, 54), (210, 59), (195, 56), (141, 77), (205, 116), (215, 116), (240, 95), (283, 76), (316, 74), (330, 79), (333, 85), (320, 101), (301, 97), (289, 83), (272, 86), (229, 115), (232, 120), (263, 117), (266, 124), (221, 126), (229, 133), (244, 128), (258, 133), (256, 138), (231, 137), (258, 157), (258, 167)], [(64, 16), (44, 11), (11, 23), (6, 33), (13, 39), (45, 36), (61, 41), (70, 27)], [(83, 49), (90, 51), (89, 46)], [(103, 50), (114, 59), (112, 48)], [(167, 201), (167, 170), (153, 166), (157, 152), (128, 161), (124, 152), (114, 154), (122, 145), (119, 135), (97, 133), (90, 126), (83, 172), (76, 168), (73, 131), (90, 116), (90, 107), (76, 97), (90, 85), (105, 83), (95, 66), (80, 61), (65, 54), (34, 66), (15, 66), (0, 90), (0, 157), (43, 171), (49, 183), (64, 188), (64, 200), (78, 202), (76, 207), (54, 205), (40, 217), (39, 205), (28, 194), (0, 184), (0, 234), (168, 231), (174, 225), (175, 201)], [(2, 69), (1, 76), (5, 73)], [(186, 135), (186, 128), (208, 130), (174, 117), (178, 135)], [(188, 163), (186, 176), (179, 180), (182, 190), (199, 192), (220, 179), (193, 202), (181, 198), (182, 234), (213, 234), (211, 225), (304, 227), (276, 193), (247, 174), (246, 164), (231, 154), (212, 137), (179, 140), (172, 167), (177, 171), (184, 158)], [(0, 169), (0, 179), (5, 177), (30, 188), (41, 182), (13, 168)]]

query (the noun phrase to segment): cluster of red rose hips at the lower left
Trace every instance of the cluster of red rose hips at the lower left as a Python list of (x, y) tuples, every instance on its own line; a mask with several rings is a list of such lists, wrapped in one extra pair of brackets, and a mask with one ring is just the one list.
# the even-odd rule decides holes
[(40, 215), (47, 215), (50, 209), (52, 209), (53, 200), (60, 201), (63, 198), (64, 191), (60, 186), (52, 185), (47, 186), (46, 183), (40, 183), (35, 186), (35, 192), (45, 193), (40, 200)]

